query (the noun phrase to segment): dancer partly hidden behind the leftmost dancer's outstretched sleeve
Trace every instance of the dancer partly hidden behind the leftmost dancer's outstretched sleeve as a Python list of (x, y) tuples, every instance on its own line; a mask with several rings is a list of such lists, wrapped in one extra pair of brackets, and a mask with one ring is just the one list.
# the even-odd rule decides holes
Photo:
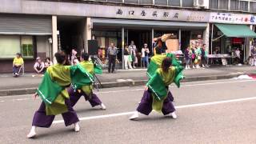
[[(102, 68), (100, 66), (94, 66), (94, 63), (89, 61), (90, 55), (87, 53), (82, 54), (83, 61), (80, 62), (80, 65), (82, 68), (84, 68), (86, 71), (88, 71), (90, 74), (102, 74)], [(94, 106), (100, 106), (102, 110), (106, 110), (106, 106), (102, 103), (102, 101), (98, 98), (96, 94), (93, 93), (93, 85), (84, 85), (80, 86), (78, 89), (74, 89), (74, 86), (70, 86), (70, 89), (68, 90), (70, 94), (70, 102), (71, 106), (74, 106), (79, 98), (82, 96), (85, 97), (86, 101), (88, 100), (90, 102), (90, 105), (92, 107)]]

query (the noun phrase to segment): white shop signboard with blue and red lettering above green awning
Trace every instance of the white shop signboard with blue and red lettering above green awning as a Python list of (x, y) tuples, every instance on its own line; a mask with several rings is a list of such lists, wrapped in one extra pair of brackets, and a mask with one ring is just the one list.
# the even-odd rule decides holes
[(210, 13), (209, 22), (231, 24), (256, 24), (256, 17), (252, 14)]

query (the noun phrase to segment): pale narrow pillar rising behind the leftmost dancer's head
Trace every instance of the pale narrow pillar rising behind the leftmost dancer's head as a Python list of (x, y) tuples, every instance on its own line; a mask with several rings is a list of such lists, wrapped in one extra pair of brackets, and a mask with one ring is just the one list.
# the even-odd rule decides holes
[[(52, 16), (52, 48), (53, 48), (53, 58), (54, 54), (58, 52), (58, 30), (57, 30), (57, 16)], [(56, 58), (54, 58), (54, 63), (57, 63)]]

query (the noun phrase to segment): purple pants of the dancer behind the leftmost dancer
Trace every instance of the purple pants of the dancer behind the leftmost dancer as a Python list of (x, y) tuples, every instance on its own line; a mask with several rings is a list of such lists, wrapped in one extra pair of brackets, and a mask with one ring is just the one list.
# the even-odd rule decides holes
[(85, 94), (82, 90), (81, 90), (81, 93), (78, 92), (78, 90), (74, 91), (73, 88), (70, 88), (68, 90), (68, 93), (70, 95), (70, 103), (71, 103), (71, 106), (74, 106), (78, 100), (84, 96), (86, 101), (89, 101), (90, 102), (90, 106), (94, 107), (94, 106), (98, 106), (98, 105), (101, 105), (102, 104), (102, 101), (97, 97), (96, 94), (92, 94), (91, 95), (91, 98)]

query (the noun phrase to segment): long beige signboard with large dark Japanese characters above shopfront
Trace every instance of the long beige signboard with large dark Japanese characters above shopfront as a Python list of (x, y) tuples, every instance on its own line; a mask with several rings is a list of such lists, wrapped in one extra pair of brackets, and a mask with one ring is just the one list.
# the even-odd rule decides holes
[[(108, 6), (109, 7), (109, 6)], [(102, 11), (99, 11), (99, 13)], [(105, 9), (106, 12), (106, 9)], [(96, 13), (97, 14), (97, 13)], [(98, 15), (98, 14), (97, 14)], [(208, 22), (209, 13), (190, 10), (153, 9), (143, 7), (110, 6), (107, 13), (99, 14), (109, 18), (136, 18), (164, 21)]]

